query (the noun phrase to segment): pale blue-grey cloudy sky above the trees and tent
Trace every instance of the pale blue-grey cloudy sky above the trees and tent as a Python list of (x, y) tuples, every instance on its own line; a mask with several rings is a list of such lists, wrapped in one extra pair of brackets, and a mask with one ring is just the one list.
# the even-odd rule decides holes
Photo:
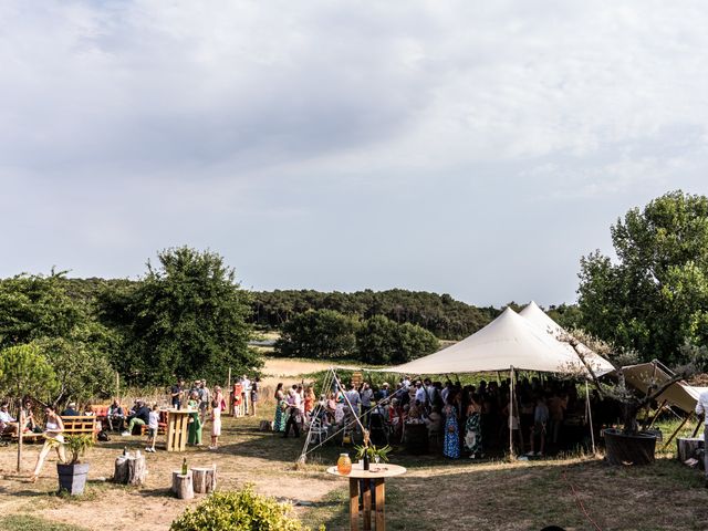
[(708, 195), (702, 1), (0, 3), (0, 277), (218, 252), (253, 290), (576, 300)]

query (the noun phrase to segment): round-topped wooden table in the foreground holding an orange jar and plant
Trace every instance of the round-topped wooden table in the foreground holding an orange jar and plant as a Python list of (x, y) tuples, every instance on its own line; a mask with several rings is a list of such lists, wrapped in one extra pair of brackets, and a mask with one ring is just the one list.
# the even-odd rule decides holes
[(372, 464), (369, 470), (363, 470), (360, 464), (352, 465), (352, 471), (347, 475), (340, 473), (336, 467), (327, 468), (327, 473), (350, 479), (350, 530), (358, 530), (358, 481), (364, 480), (364, 510), (362, 519), (364, 520), (364, 531), (372, 529), (372, 480), (374, 481), (374, 492), (376, 494), (376, 531), (386, 530), (386, 491), (384, 480), (406, 473), (406, 469), (398, 465), (391, 464)]

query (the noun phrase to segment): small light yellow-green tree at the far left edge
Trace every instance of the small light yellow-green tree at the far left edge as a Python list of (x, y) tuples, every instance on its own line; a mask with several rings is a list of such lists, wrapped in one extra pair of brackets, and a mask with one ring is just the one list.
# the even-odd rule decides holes
[(0, 394), (43, 399), (56, 387), (56, 375), (37, 343), (0, 351)]

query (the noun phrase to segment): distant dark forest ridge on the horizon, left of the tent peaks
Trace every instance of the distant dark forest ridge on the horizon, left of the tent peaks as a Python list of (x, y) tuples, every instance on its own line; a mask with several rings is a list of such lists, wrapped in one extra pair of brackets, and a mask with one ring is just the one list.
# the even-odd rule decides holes
[(501, 310), (477, 308), (456, 301), (447, 293), (386, 290), (354, 293), (314, 290), (252, 292), (251, 322), (260, 327), (281, 329), (309, 310), (332, 310), (361, 321), (383, 315), (391, 321), (418, 325), (439, 339), (461, 340), (488, 324)]

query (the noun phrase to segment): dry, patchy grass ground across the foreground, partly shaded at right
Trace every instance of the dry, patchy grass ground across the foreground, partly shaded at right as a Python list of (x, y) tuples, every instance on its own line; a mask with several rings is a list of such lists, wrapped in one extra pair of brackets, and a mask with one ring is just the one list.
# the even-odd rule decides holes
[[(167, 530), (185, 508), (199, 501), (185, 502), (168, 493), (171, 470), (185, 456), (190, 465), (216, 464), (221, 490), (252, 482), (259, 492), (294, 502), (295, 514), (315, 529), (319, 524), (327, 530), (348, 529), (346, 481), (324, 472), (342, 448), (325, 447), (304, 467), (295, 467), (302, 439), (258, 430), (260, 419), (270, 418), (272, 409), (272, 405), (263, 407), (257, 418), (225, 418), (223, 446), (216, 452), (189, 449), (184, 455), (147, 455), (148, 482), (140, 489), (104, 480), (113, 475), (113, 462), (124, 446), (143, 446), (138, 437), (113, 437), (91, 450), (87, 493), (77, 499), (55, 494), (53, 460), (45, 465), (40, 481), (27, 481), (39, 446), (27, 447), (20, 476), (14, 473), (15, 448), (0, 448), (0, 529)], [(208, 431), (209, 425), (205, 435)], [(700, 472), (678, 464), (670, 454), (646, 468), (612, 468), (601, 458), (586, 456), (472, 462), (396, 451), (391, 458), (408, 472), (386, 482), (389, 530), (516, 531), (551, 523), (569, 531), (708, 529), (708, 489)]]

